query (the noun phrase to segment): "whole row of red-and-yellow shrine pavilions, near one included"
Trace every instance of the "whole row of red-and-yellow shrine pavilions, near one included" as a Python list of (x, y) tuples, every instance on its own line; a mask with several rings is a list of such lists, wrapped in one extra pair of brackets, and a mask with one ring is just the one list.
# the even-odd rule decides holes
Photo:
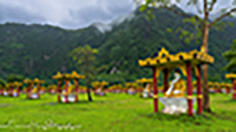
[[(203, 112), (203, 107), (202, 107), (202, 66), (205, 64), (212, 64), (214, 62), (214, 58), (208, 54), (205, 53), (204, 48), (201, 48), (200, 51), (198, 50), (193, 50), (190, 52), (179, 52), (177, 54), (170, 54), (165, 48), (162, 48), (156, 56), (148, 57), (143, 60), (139, 60), (139, 65), (141, 67), (147, 67), (152, 69), (152, 79), (138, 79), (136, 80), (135, 83), (126, 83), (126, 93), (140, 93), (144, 92), (145, 90), (142, 89), (142, 86), (137, 84), (150, 84), (152, 87), (152, 95), (147, 95), (148, 97), (153, 98), (153, 103), (154, 103), (154, 112), (157, 113), (159, 111), (158, 107), (158, 102), (159, 98), (161, 97), (159, 93), (159, 88), (158, 88), (158, 83), (157, 83), (157, 78), (160, 75), (161, 72), (163, 72), (164, 79), (163, 79), (163, 87), (162, 87), (162, 92), (166, 93), (168, 89), (170, 88), (170, 83), (168, 82), (168, 79), (170, 77), (170, 74), (172, 71), (175, 69), (179, 69), (182, 74), (187, 78), (186, 79), (186, 90), (187, 90), (187, 96), (185, 98), (187, 99), (187, 104), (188, 104), (188, 115), (192, 116), (194, 114), (193, 110), (193, 103), (196, 98), (197, 100), (197, 113), (202, 114)], [(194, 72), (194, 74), (192, 73)], [(193, 79), (195, 75), (196, 78), (196, 97), (193, 96)], [(56, 75), (52, 77), (53, 79), (57, 80), (58, 83), (54, 87), (54, 92), (57, 94), (57, 100), (58, 102), (78, 102), (79, 101), (79, 80), (84, 79), (85, 76), (78, 74), (77, 72), (72, 72), (71, 74), (62, 74), (58, 72)], [(213, 83), (209, 82), (208, 86), (209, 87), (225, 87), (227, 92), (230, 92), (230, 87), (233, 87), (233, 99), (236, 99), (236, 74), (227, 74), (226, 75), (227, 79), (232, 80), (232, 85), (225, 84), (225, 83)], [(71, 81), (73, 81), (73, 86), (74, 88), (72, 89), (70, 87)], [(40, 98), (40, 92), (42, 90), (41, 85), (44, 83), (43, 80), (39, 79), (25, 79), (24, 83), (27, 84), (27, 90), (25, 91), (27, 93), (27, 97), (30, 99), (38, 99)], [(64, 84), (64, 87), (62, 89), (62, 84)], [(94, 87), (95, 93), (99, 95), (104, 95), (105, 93), (103, 92), (104, 86), (107, 86), (109, 83), (106, 81), (102, 82), (94, 82), (92, 85)], [(14, 83), (9, 83), (8, 84), (10, 93), (14, 94), (14, 96), (19, 96), (19, 87), (22, 85), (22, 83), (19, 82), (14, 82)], [(117, 92), (117, 91), (122, 91), (123, 88), (120, 85), (113, 85), (107, 88), (108, 92)], [(129, 90), (132, 88), (135, 88), (133, 90)], [(12, 92), (14, 89), (17, 89), (17, 92), (14, 93)], [(34, 89), (34, 90), (33, 90)], [(219, 88), (218, 88), (219, 89)], [(71, 93), (73, 90), (73, 97), (71, 97)], [(86, 89), (84, 92), (86, 92), (88, 89)], [(33, 92), (34, 91), (34, 92)], [(217, 90), (216, 90), (217, 91)], [(150, 92), (150, 90), (149, 90)], [(218, 91), (220, 92), (220, 91)], [(32, 94), (36, 93), (36, 94)], [(3, 95), (4, 91), (1, 88), (0, 89), (0, 94)]]

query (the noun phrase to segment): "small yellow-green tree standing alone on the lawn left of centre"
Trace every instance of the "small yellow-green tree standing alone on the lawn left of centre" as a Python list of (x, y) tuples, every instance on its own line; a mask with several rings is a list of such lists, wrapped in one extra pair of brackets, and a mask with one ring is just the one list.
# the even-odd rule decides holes
[(96, 73), (95, 54), (98, 53), (97, 49), (91, 48), (89, 45), (85, 45), (84, 47), (79, 46), (73, 51), (71, 51), (70, 56), (73, 61), (76, 63), (76, 66), (80, 71), (82, 71), (85, 75), (86, 86), (87, 86), (87, 94), (88, 100), (92, 101), (92, 96), (90, 94), (90, 86), (91, 82), (94, 79), (94, 74)]

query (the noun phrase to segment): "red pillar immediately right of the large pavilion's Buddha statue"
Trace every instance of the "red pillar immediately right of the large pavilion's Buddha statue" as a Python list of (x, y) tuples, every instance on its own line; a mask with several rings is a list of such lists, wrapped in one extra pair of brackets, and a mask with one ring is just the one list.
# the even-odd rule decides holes
[(191, 64), (187, 63), (187, 93), (188, 93), (188, 115), (193, 115), (193, 87), (192, 87), (192, 71)]

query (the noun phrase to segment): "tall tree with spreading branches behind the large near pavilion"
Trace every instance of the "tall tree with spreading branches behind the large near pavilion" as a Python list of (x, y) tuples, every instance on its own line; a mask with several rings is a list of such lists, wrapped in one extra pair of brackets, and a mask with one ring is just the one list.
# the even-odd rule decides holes
[[(196, 34), (192, 35), (193, 32), (188, 32), (187, 30), (181, 30), (181, 33), (189, 36), (190, 39), (193, 39), (195, 36), (201, 38), (202, 45), (205, 48), (205, 52), (208, 53), (208, 38), (210, 29), (212, 27), (217, 27), (219, 24), (222, 24), (222, 19), (225, 17), (231, 16), (232, 13), (236, 12), (236, 0), (231, 1), (232, 4), (230, 7), (220, 9), (220, 15), (216, 17), (214, 20), (211, 20), (210, 16), (214, 12), (218, 12), (215, 9), (216, 4), (219, 0), (188, 0), (187, 6), (192, 6), (193, 8), (197, 9), (197, 14), (186, 14), (173, 6), (174, 4), (179, 4), (183, 2), (183, 0), (144, 0), (143, 3), (138, 2), (140, 4), (140, 11), (147, 10), (149, 16), (152, 16), (153, 8), (155, 7), (162, 7), (166, 8), (175, 14), (183, 16), (186, 18), (185, 22), (189, 25), (193, 26)], [(189, 40), (187, 38), (186, 40)], [(206, 111), (211, 111), (210, 109), (210, 98), (209, 98), (209, 89), (207, 87), (207, 73), (208, 73), (208, 65), (203, 66), (203, 108)]]

